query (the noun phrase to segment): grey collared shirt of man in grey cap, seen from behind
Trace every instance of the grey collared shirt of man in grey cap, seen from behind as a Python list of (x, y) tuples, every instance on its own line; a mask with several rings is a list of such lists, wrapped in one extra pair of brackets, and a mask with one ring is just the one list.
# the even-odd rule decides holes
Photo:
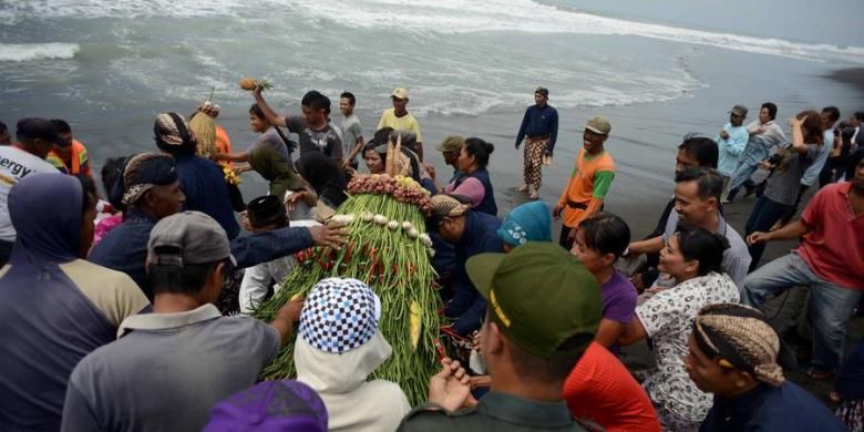
[(279, 350), (274, 328), (223, 318), (213, 305), (131, 317), (124, 329), (72, 372), (64, 431), (200, 430), (210, 408), (253, 385)]

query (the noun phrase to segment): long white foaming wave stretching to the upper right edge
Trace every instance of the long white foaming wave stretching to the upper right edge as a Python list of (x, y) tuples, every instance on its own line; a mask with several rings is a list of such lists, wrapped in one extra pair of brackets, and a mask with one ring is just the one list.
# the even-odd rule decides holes
[(291, 3), (302, 9), (305, 14), (364, 29), (380, 28), (382, 22), (398, 22), (407, 31), (453, 34), (515, 31), (635, 35), (801, 60), (864, 63), (864, 48), (861, 47), (800, 43), (628, 21), (559, 9), (533, 0), (438, 0), (411, 7), (395, 0), (296, 0)]

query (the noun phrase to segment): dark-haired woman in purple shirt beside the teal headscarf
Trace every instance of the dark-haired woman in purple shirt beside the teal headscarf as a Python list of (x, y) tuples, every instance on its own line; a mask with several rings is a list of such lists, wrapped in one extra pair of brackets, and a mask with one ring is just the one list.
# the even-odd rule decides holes
[(617, 354), (615, 343), (630, 323), (637, 292), (629, 279), (615, 269), (615, 261), (630, 243), (630, 228), (620, 217), (601, 213), (583, 220), (570, 253), (585, 264), (603, 296), (603, 320), (595, 341)]

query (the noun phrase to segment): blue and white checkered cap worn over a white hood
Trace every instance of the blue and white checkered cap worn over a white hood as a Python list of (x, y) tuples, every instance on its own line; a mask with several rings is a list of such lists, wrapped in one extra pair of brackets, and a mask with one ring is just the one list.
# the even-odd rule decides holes
[(368, 342), (378, 331), (381, 301), (357, 279), (328, 278), (312, 287), (300, 313), (300, 337), (340, 354)]

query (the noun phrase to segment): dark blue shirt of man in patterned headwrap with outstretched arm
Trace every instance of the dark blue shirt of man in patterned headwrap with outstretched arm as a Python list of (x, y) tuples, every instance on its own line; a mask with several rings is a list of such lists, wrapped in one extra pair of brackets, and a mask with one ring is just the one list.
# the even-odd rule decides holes
[[(152, 300), (146, 260), (147, 240), (155, 225), (156, 220), (150, 215), (136, 208), (128, 209), (126, 220), (102, 238), (88, 260), (125, 272)], [(296, 254), (313, 244), (309, 228), (282, 228), (236, 238), (230, 241), (230, 247), (237, 267), (246, 268)]]

